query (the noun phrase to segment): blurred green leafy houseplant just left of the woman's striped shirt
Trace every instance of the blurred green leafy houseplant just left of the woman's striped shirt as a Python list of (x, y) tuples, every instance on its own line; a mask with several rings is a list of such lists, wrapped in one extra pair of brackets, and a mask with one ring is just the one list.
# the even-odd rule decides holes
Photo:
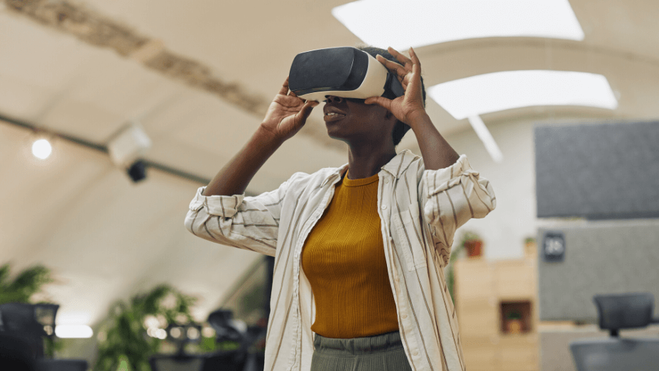
[(158, 335), (169, 323), (192, 322), (190, 309), (196, 301), (165, 284), (127, 302), (117, 301), (98, 331), (99, 353), (94, 370), (151, 371), (148, 360), (165, 341)]

